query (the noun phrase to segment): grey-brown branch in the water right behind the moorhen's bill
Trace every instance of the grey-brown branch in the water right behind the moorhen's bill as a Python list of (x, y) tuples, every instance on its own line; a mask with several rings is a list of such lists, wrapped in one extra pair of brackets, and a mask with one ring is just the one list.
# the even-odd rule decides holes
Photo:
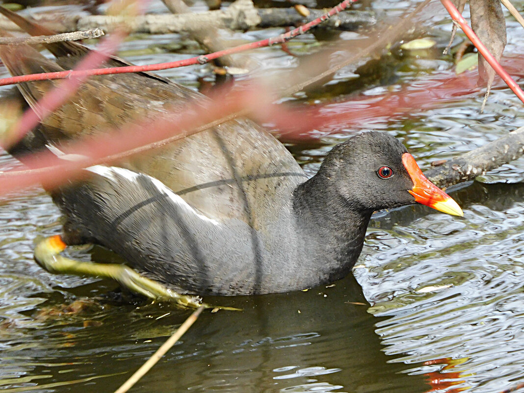
[(473, 180), (524, 154), (524, 127), (425, 171), (438, 187)]

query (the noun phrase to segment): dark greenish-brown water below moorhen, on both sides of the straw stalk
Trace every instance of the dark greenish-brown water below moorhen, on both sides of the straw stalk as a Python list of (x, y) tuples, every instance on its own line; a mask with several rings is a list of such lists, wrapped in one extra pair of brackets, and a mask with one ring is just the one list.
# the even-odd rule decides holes
[[(307, 292), (210, 300), (244, 311), (201, 315), (135, 391), (427, 389), (424, 378), (387, 362), (374, 332), (378, 319), (354, 279)], [(0, 384), (7, 391), (68, 391), (72, 383), (88, 392), (116, 389), (187, 316), (169, 305), (105, 304), (30, 328), (6, 326), (14, 337), (2, 341)]]

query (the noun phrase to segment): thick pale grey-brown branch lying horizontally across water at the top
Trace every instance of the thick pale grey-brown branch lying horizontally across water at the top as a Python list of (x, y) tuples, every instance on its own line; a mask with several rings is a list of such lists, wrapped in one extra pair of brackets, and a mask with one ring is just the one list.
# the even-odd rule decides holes
[[(249, 5), (250, 4), (250, 5)], [(310, 9), (312, 16), (323, 14), (324, 10)], [(277, 15), (278, 16), (277, 18)], [(300, 19), (300, 18), (302, 19)], [(227, 7), (224, 10), (208, 11), (195, 14), (150, 14), (136, 17), (118, 17), (108, 15), (62, 15), (60, 19), (50, 14), (34, 14), (30, 19), (45, 25), (57, 32), (68, 32), (75, 30), (89, 30), (96, 27), (104, 31), (114, 30), (115, 26), (125, 24), (132, 32), (146, 34), (167, 34), (179, 32), (191, 32), (202, 28), (202, 26), (213, 26), (215, 28), (227, 28), (231, 30), (247, 30), (250, 28), (270, 27), (271, 23), (277, 26), (294, 26), (307, 23), (312, 18), (303, 17), (292, 8), (291, 10), (257, 10), (252, 3), (243, 2), (242, 6)], [(273, 19), (274, 22), (271, 22)], [(278, 23), (277, 23), (278, 20)], [(376, 18), (368, 12), (352, 11), (350, 14), (342, 12), (334, 15), (329, 21), (329, 27), (341, 30), (353, 29), (354, 27), (369, 26), (376, 23)], [(6, 18), (0, 18), (0, 29), (19, 29)]]

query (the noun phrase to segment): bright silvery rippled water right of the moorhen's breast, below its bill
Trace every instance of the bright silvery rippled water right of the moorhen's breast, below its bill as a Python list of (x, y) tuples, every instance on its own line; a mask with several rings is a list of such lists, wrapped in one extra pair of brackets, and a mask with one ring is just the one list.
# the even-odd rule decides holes
[(453, 389), (500, 391), (523, 377), (524, 184), (475, 183), (457, 194), (462, 227), (441, 214), (405, 227), (394, 212), (370, 229), (356, 272), (369, 311), (391, 317), (376, 332), (392, 361), (422, 362), (409, 370), (418, 374), (441, 359)]

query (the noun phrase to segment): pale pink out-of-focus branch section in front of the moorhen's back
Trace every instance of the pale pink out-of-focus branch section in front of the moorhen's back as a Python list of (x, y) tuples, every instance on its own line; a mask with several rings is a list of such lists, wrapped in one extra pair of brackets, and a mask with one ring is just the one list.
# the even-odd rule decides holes
[[(230, 92), (226, 99), (222, 96), (204, 104), (190, 103), (177, 113), (167, 113), (138, 124), (127, 124), (111, 133), (62, 145), (60, 149), (66, 155), (63, 160), (57, 159), (50, 151), (33, 154), (24, 159), (29, 170), (0, 173), (0, 194), (37, 184), (56, 187), (64, 181), (81, 177), (83, 168), (122, 158), (122, 152), (126, 152), (125, 156), (128, 156), (127, 152), (133, 149), (144, 151), (144, 146), (151, 148), (150, 145), (158, 141), (166, 143), (168, 137), (169, 141), (173, 141), (200, 132), (202, 127), (199, 126), (207, 128), (208, 123), (214, 119), (245, 109), (246, 103), (250, 108), (259, 105), (260, 97), (260, 89), (253, 89)], [(147, 133), (144, 132), (145, 129), (148, 130)]]

